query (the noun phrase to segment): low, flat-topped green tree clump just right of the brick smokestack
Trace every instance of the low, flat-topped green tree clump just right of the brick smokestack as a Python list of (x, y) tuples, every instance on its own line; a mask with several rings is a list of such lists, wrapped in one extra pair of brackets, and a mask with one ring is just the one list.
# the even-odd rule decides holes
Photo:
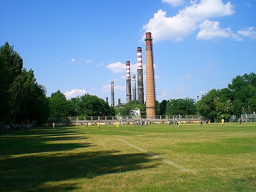
[(166, 115), (189, 115), (196, 114), (195, 100), (171, 99), (166, 102)]

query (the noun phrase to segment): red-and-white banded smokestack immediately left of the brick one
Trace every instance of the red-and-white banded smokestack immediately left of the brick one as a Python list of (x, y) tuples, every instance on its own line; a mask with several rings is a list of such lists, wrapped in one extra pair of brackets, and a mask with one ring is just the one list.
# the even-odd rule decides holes
[(142, 53), (141, 47), (137, 47), (137, 86), (138, 101), (144, 104), (144, 88), (143, 88), (143, 69), (142, 69)]

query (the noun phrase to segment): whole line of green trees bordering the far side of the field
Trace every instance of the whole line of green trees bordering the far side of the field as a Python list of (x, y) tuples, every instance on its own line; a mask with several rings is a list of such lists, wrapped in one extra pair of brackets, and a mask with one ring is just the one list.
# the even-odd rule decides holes
[[(134, 110), (140, 109), (146, 116), (145, 104), (138, 101), (111, 107), (103, 99), (84, 94), (67, 99), (57, 90), (50, 97), (47, 90), (36, 81), (34, 71), (23, 67), (23, 59), (6, 42), (0, 47), (0, 122), (7, 122), (13, 115), (29, 116), (38, 123), (47, 119), (54, 120), (65, 116), (134, 116)], [(234, 114), (255, 113), (256, 111), (256, 74), (236, 76), (227, 88), (212, 89), (198, 102), (192, 98), (156, 101), (156, 115), (192, 115), (199, 114), (212, 121), (228, 119)]]

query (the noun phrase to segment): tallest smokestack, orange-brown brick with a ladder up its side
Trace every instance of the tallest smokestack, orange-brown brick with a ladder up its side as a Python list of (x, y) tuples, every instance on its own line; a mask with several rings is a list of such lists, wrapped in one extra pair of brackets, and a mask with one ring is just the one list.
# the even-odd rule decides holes
[(149, 118), (156, 115), (152, 40), (151, 32), (146, 32), (146, 113)]

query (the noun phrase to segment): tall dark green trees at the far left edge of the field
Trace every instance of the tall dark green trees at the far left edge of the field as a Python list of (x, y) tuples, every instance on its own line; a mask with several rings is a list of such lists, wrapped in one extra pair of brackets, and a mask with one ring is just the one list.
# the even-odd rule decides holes
[(8, 42), (0, 47), (0, 119), (12, 114), (46, 116), (46, 89), (36, 81), (34, 71), (23, 68), (23, 59)]

